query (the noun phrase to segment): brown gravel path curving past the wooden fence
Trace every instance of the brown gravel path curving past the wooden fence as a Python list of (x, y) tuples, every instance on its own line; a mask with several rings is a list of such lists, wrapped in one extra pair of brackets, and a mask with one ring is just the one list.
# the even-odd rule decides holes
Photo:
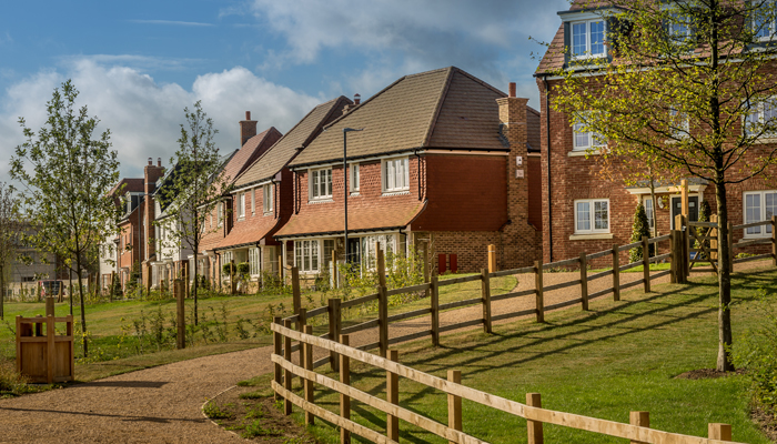
[[(737, 271), (766, 266), (748, 262)], [(698, 274), (694, 274), (696, 276)], [(579, 278), (579, 273), (546, 273), (545, 286)], [(622, 273), (620, 282), (642, 273)], [(653, 281), (668, 282), (668, 276)], [(593, 281), (594, 293), (612, 285), (612, 276)], [(532, 274), (519, 276), (514, 291), (534, 287)], [(637, 286), (636, 289), (639, 289)], [(545, 293), (545, 304), (579, 297), (579, 286)], [(612, 293), (603, 297), (612, 297)], [(493, 314), (534, 307), (534, 295), (497, 301)], [(574, 305), (569, 310), (579, 310)], [(480, 305), (443, 312), (441, 325), (482, 316)], [(533, 316), (533, 315), (529, 315)], [(515, 319), (502, 322), (512, 322)], [(430, 329), (428, 316), (391, 324), (391, 337)], [(473, 327), (471, 327), (473, 329)], [(475, 326), (474, 329), (477, 329)], [(353, 335), (354, 345), (377, 341), (377, 331)], [(443, 336), (444, 341), (444, 336)], [(240, 437), (205, 420), (200, 407), (239, 381), (272, 371), (272, 347), (199, 357), (127, 373), (69, 389), (0, 401), (2, 443), (238, 443)], [(296, 356), (294, 357), (296, 361)]]

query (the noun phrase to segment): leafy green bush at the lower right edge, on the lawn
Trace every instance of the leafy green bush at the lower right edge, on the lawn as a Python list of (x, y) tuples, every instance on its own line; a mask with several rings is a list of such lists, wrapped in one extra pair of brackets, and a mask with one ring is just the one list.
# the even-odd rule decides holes
[(747, 370), (756, 404), (777, 415), (777, 301), (764, 289), (757, 300), (763, 321), (741, 336), (734, 349), (734, 365)]

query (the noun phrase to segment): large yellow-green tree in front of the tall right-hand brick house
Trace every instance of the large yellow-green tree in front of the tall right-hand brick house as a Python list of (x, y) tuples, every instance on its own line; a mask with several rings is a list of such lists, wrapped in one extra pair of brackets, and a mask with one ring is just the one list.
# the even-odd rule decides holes
[[(726, 239), (726, 186), (775, 163), (775, 145), (760, 143), (777, 133), (773, 1), (620, 0), (595, 7), (608, 23), (608, 54), (569, 57), (557, 72), (564, 82), (553, 107), (583, 131), (602, 134), (612, 155), (660, 159), (713, 184), (718, 233)], [(718, 242), (719, 371), (733, 370), (728, 249)]]

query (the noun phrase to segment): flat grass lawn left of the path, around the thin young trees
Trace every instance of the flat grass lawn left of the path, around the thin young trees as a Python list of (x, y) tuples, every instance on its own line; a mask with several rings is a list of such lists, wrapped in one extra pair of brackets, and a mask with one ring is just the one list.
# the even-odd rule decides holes
[[(452, 279), (461, 275), (443, 276)], [(506, 276), (492, 280), (494, 291), (508, 292), (515, 286), (515, 278)], [(463, 284), (448, 285), (441, 289), (441, 303), (453, 302), (463, 299), (476, 297), (480, 295), (480, 282), (467, 282)], [(498, 293), (494, 293), (498, 294)], [(336, 292), (307, 292), (302, 296), (302, 305), (309, 309), (317, 307), (326, 297), (337, 297)], [(428, 305), (428, 300), (395, 301), (390, 307), (390, 312), (401, 313), (408, 310), (416, 310)], [(188, 316), (193, 310), (193, 300), (186, 300)], [(268, 324), (271, 320), (269, 309), (278, 315), (280, 311), (290, 314), (292, 297), (290, 294), (260, 294), (240, 296), (213, 296), (199, 300), (200, 323), (209, 326), (212, 336), (208, 343), (202, 339), (202, 331), (195, 334), (195, 344), (182, 351), (170, 350), (170, 346), (157, 346), (145, 344), (143, 349), (137, 340), (137, 333), (143, 331), (151, 335), (153, 317), (158, 312), (162, 313), (164, 329), (172, 326), (170, 320), (175, 312), (175, 301), (117, 301), (87, 305), (87, 326), (91, 334), (90, 359), (79, 360), (75, 365), (75, 377), (78, 381), (92, 381), (114, 374), (147, 369), (149, 366), (162, 365), (172, 362), (189, 360), (193, 357), (233, 352), (251, 347), (272, 344), (272, 335), (266, 334), (261, 325)], [(226, 309), (226, 316), (222, 310)], [(350, 317), (346, 324), (360, 322), (366, 317), (375, 317), (375, 307), (354, 307), (345, 315)], [(68, 303), (56, 305), (56, 314), (63, 316), (69, 313)], [(16, 359), (14, 329), (16, 316), (22, 315), (31, 317), (43, 314), (44, 303), (6, 303), (4, 325), (0, 324), (0, 365), (9, 366)], [(80, 309), (78, 304), (73, 307), (75, 320), (80, 320)], [(238, 321), (242, 319), (251, 321), (242, 323), (244, 329), (243, 337), (238, 331)], [(221, 325), (224, 337), (219, 337), (215, 333), (215, 321)], [(223, 326), (226, 321), (226, 325)], [(135, 327), (134, 322), (145, 323), (142, 327)], [(317, 330), (326, 330), (326, 316), (316, 319)], [(190, 323), (191, 321), (188, 320)], [(167, 332), (167, 331), (165, 331)], [(245, 336), (249, 337), (245, 337)], [(75, 355), (80, 357), (81, 343), (77, 340)]]

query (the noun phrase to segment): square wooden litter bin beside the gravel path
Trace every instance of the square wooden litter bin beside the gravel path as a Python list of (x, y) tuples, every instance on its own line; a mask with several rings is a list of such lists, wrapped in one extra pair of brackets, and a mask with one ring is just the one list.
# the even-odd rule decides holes
[[(64, 335), (57, 335), (58, 322), (64, 323)], [(31, 383), (73, 381), (73, 316), (17, 316), (17, 371)]]

